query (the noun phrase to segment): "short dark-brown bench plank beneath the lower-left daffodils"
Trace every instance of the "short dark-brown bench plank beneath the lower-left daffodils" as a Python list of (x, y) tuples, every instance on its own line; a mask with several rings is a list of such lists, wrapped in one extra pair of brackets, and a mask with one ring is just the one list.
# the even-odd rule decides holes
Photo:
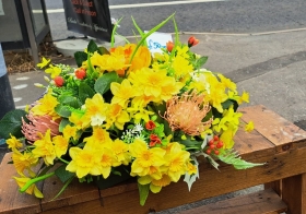
[(75, 179), (57, 199), (52, 200), (62, 187), (63, 183), (56, 176), (45, 180), (43, 188), (44, 199), (42, 200), (43, 211), (99, 199), (98, 188), (94, 183), (80, 183)]

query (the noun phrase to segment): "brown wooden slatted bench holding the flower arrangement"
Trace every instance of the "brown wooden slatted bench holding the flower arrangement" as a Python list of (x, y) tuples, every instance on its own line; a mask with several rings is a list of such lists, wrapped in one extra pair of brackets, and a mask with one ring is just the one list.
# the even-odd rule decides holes
[[(10, 154), (7, 154), (0, 166), (0, 213), (149, 213), (266, 183), (264, 187), (272, 188), (273, 191), (269, 189), (242, 197), (249, 200), (244, 202), (244, 205), (238, 203), (243, 200), (235, 202), (235, 199), (232, 199), (232, 202), (226, 202), (228, 206), (199, 209), (205, 209), (205, 213), (213, 213), (215, 207), (220, 209), (215, 213), (231, 213), (229, 210), (234, 209), (232, 213), (237, 213), (235, 209), (238, 206), (249, 209), (255, 204), (254, 207), (258, 207), (255, 213), (269, 213), (261, 211), (261, 207), (264, 206), (262, 204), (271, 204), (271, 207), (275, 207), (271, 209), (270, 213), (279, 213), (287, 207), (287, 213), (306, 214), (306, 132), (263, 106), (246, 107), (240, 111), (244, 112), (243, 120), (252, 120), (256, 129), (251, 133), (239, 130), (235, 136), (235, 148), (244, 159), (267, 163), (263, 166), (236, 170), (233, 166), (221, 164), (217, 171), (203, 162), (200, 164), (200, 179), (192, 185), (190, 192), (187, 183), (180, 180), (163, 188), (157, 194), (150, 193), (145, 205), (141, 206), (134, 180), (105, 190), (75, 182), (58, 199), (50, 201), (62, 187), (55, 177), (39, 186), (45, 195), (43, 200), (20, 194), (11, 178), (15, 173), (13, 166), (7, 164), (10, 160)], [(254, 195), (264, 201), (256, 201)], [(275, 195), (278, 199), (273, 201)], [(240, 211), (247, 210), (239, 210), (239, 213), (254, 213)], [(199, 213), (199, 210), (188, 212)]]

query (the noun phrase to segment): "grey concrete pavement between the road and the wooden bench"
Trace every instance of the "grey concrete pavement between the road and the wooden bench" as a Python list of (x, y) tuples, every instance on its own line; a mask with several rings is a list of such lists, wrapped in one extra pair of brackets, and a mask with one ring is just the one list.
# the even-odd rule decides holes
[[(239, 91), (249, 92), (248, 105), (264, 105), (285, 119), (306, 128), (306, 31), (256, 35), (188, 33), (180, 35), (180, 40), (187, 43), (191, 35), (200, 39), (200, 44), (192, 47), (193, 51), (209, 56), (205, 68), (224, 73), (237, 83)], [(10, 75), (16, 107), (23, 108), (42, 95), (44, 88), (36, 88), (33, 84), (44, 84), (44, 75), (42, 71)], [(209, 203), (211, 200), (201, 203)], [(181, 209), (196, 205), (197, 203), (188, 204)], [(163, 213), (172, 212), (175, 210)]]

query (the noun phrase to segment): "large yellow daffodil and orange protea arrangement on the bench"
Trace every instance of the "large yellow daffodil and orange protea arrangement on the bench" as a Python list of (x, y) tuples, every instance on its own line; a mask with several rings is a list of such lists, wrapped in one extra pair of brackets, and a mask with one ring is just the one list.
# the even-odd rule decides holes
[(146, 34), (134, 23), (138, 44), (107, 50), (91, 40), (75, 52), (76, 69), (43, 58), (38, 66), (51, 78), (44, 96), (0, 121), (22, 192), (43, 198), (35, 183), (51, 176), (64, 183), (60, 192), (74, 178), (107, 182), (121, 167), (137, 177), (144, 204), (149, 190), (157, 193), (183, 176), (190, 189), (198, 156), (216, 168), (217, 160), (237, 169), (260, 165), (233, 150), (242, 126), (237, 108), (248, 94), (202, 68), (208, 58), (191, 51), (199, 40), (181, 44), (176, 34), (162, 54), (151, 55), (145, 38), (170, 19)]

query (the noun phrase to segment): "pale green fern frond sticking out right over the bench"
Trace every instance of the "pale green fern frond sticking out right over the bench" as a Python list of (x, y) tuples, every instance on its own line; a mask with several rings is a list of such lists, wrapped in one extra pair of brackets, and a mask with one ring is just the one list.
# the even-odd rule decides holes
[(221, 153), (217, 158), (226, 164), (233, 165), (236, 169), (247, 169), (255, 166), (262, 166), (263, 164), (255, 164), (242, 159), (238, 153), (234, 150), (227, 150)]

